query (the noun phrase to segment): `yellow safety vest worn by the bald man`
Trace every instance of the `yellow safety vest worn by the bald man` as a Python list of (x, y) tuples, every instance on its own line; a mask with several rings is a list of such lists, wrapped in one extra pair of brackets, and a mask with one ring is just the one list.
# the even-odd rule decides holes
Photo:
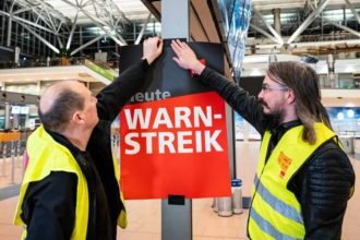
[[(26, 193), (26, 189), (31, 182), (40, 181), (50, 175), (51, 171), (67, 171), (73, 172), (77, 176), (77, 189), (76, 189), (76, 208), (75, 208), (75, 223), (74, 230), (71, 239), (86, 239), (87, 220), (88, 220), (88, 190), (85, 176), (79, 167), (76, 160), (70, 153), (70, 151), (63, 145), (57, 143), (40, 125), (27, 141), (27, 155), (28, 164), (24, 175), (23, 183), (20, 189), (19, 202), (16, 213), (14, 217), (14, 224), (17, 226), (24, 226), (24, 232), (22, 239), (26, 238), (26, 225), (21, 218), (22, 204)], [(119, 177), (119, 169), (115, 169), (117, 178)], [(121, 201), (122, 193), (120, 192)], [(125, 211), (121, 211), (118, 218), (118, 225), (120, 227), (127, 226)]]

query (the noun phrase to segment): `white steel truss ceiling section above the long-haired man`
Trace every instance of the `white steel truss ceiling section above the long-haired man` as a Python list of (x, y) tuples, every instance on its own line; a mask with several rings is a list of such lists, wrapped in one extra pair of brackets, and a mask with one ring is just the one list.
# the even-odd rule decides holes
[[(248, 46), (295, 55), (360, 51), (360, 0), (253, 0)], [(280, 29), (275, 28), (275, 11)], [(256, 39), (261, 38), (261, 40)], [(265, 40), (264, 40), (265, 39)]]

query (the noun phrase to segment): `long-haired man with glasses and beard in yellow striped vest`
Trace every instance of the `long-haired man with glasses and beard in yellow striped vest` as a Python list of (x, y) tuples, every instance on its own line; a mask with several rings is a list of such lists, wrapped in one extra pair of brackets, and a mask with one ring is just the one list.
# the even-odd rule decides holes
[(250, 239), (340, 239), (355, 173), (321, 103), (316, 72), (301, 62), (271, 63), (259, 96), (173, 40), (173, 60), (199, 74), (262, 135), (248, 218)]

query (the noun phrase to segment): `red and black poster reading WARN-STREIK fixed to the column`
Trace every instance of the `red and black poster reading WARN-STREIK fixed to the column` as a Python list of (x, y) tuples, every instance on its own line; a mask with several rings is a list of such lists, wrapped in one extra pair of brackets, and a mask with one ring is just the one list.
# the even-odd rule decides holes
[[(208, 64), (212, 59), (218, 62), (215, 65), (221, 64), (221, 49), (200, 46)], [(214, 49), (217, 55), (212, 53)], [(225, 103), (177, 67), (171, 55), (166, 48), (146, 88), (120, 113), (124, 197), (230, 195)]]

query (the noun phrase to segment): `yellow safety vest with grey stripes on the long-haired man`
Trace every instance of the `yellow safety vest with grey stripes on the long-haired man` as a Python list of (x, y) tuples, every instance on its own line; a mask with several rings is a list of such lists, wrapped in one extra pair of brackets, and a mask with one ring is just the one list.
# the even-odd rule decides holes
[(287, 131), (265, 158), (271, 133), (265, 132), (259, 156), (248, 232), (251, 239), (303, 239), (301, 206), (296, 195), (287, 189), (292, 176), (310, 155), (335, 133), (323, 123), (315, 123), (316, 142), (311, 145), (301, 137), (303, 125)]

